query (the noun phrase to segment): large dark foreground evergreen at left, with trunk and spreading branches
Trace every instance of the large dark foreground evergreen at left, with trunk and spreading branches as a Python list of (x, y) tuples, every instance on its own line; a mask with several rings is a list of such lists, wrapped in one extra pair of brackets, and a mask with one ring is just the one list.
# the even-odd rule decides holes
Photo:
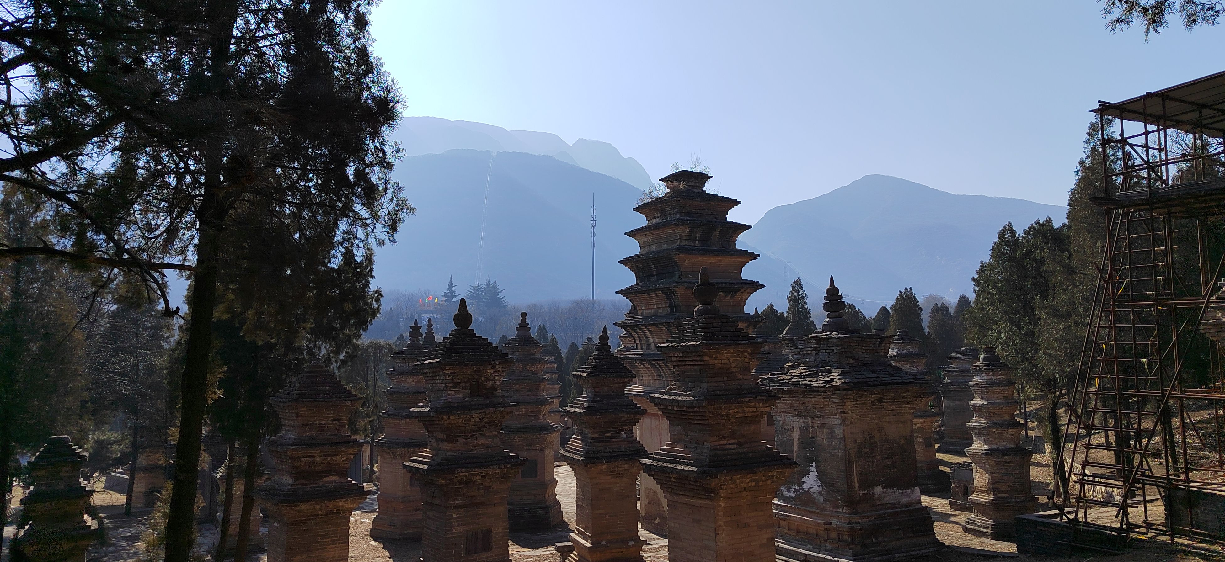
[(370, 4), (6, 7), (4, 55), (23, 64), (5, 70), (28, 89), (24, 109), (0, 115), (16, 154), (0, 180), (55, 201), (59, 234), (9, 255), (125, 269), (170, 313), (154, 272), (192, 272), (165, 525), (165, 561), (186, 562), (230, 213), (251, 203), (325, 218), (318, 225), (361, 256), (410, 212), (390, 176), (385, 133), (401, 102), (370, 55)]

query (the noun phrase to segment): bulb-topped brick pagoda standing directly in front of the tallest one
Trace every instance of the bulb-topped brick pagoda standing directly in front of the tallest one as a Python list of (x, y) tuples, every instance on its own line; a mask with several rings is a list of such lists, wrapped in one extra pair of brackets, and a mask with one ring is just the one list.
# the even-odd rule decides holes
[(648, 399), (669, 441), (642, 462), (668, 500), (668, 560), (769, 560), (771, 502), (795, 463), (761, 440), (773, 398), (755, 382), (761, 342), (723, 315), (707, 269), (693, 288), (693, 317), (655, 348), (673, 380)]

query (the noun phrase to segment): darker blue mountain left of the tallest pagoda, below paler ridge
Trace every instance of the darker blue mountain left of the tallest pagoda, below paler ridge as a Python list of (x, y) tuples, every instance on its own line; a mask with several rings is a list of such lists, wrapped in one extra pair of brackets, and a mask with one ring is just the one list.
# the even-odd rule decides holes
[[(376, 253), (385, 290), (441, 291), (450, 275), (466, 289), (491, 277), (512, 302), (588, 298), (593, 196), (595, 296), (620, 299), (633, 283), (617, 261), (638, 252), (625, 233), (646, 219), (633, 212), (642, 191), (625, 181), (552, 157), (468, 149), (407, 157), (394, 174), (417, 214)], [(785, 295), (796, 272), (763, 257), (745, 275)]]

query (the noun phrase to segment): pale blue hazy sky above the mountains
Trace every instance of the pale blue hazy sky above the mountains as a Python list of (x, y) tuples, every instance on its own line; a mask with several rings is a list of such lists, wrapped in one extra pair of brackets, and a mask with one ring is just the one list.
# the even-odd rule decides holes
[(405, 115), (701, 154), (733, 218), (865, 174), (1065, 204), (1089, 109), (1223, 70), (1225, 29), (1111, 34), (1093, 0), (409, 1), (374, 12)]

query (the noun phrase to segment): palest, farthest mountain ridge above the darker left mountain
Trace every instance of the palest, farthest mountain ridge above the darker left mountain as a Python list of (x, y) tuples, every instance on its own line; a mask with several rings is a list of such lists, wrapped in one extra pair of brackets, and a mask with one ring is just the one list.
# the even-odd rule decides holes
[(405, 155), (437, 154), (456, 148), (526, 152), (551, 155), (610, 175), (639, 190), (653, 185), (638, 160), (622, 157), (616, 147), (603, 141), (579, 138), (570, 144), (551, 132), (507, 131), (484, 122), (440, 118), (405, 118), (392, 138), (401, 142)]

